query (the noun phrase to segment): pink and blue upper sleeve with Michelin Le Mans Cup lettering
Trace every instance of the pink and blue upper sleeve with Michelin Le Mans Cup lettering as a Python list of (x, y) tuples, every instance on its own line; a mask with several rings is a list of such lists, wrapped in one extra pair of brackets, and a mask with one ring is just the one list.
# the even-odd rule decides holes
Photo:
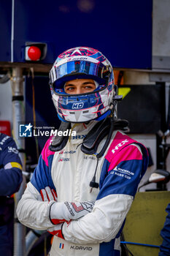
[(101, 170), (100, 191), (97, 200), (112, 194), (134, 197), (147, 168), (147, 165), (144, 167), (145, 157), (147, 155), (143, 154), (142, 156), (138, 148), (127, 146), (111, 163), (105, 159)]

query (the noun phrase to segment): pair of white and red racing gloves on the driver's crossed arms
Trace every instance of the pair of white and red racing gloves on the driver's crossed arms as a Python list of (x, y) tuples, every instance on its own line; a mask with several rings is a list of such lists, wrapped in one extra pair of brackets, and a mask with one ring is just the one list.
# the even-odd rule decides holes
[(50, 221), (54, 225), (58, 225), (61, 222), (68, 222), (71, 219), (79, 219), (93, 210), (94, 202), (57, 202), (57, 194), (54, 189), (45, 187), (41, 190), (42, 200), (51, 201), (54, 203), (50, 206), (49, 217)]

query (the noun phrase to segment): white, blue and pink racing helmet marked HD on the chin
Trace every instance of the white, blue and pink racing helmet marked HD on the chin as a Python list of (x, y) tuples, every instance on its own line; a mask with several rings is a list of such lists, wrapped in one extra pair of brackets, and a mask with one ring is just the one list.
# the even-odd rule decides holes
[[(66, 81), (93, 79), (98, 87), (85, 94), (66, 94)], [(50, 70), (50, 89), (61, 121), (83, 123), (102, 120), (110, 113), (115, 96), (112, 66), (93, 48), (77, 47), (61, 53)]]

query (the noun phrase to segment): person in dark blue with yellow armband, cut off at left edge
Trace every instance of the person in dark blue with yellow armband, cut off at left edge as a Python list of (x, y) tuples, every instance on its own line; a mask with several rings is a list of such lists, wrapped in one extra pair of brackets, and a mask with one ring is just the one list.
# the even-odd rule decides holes
[(0, 133), (0, 254), (13, 255), (14, 199), (23, 180), (15, 141)]

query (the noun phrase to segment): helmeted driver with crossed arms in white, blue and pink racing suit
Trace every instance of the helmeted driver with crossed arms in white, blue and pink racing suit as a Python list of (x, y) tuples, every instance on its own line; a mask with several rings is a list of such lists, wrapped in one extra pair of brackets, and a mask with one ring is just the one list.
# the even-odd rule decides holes
[(60, 131), (76, 136), (47, 140), (18, 203), (18, 219), (54, 235), (50, 256), (119, 256), (147, 150), (122, 132), (127, 123), (116, 117), (112, 66), (98, 50), (61, 53), (50, 70), (50, 89)]

